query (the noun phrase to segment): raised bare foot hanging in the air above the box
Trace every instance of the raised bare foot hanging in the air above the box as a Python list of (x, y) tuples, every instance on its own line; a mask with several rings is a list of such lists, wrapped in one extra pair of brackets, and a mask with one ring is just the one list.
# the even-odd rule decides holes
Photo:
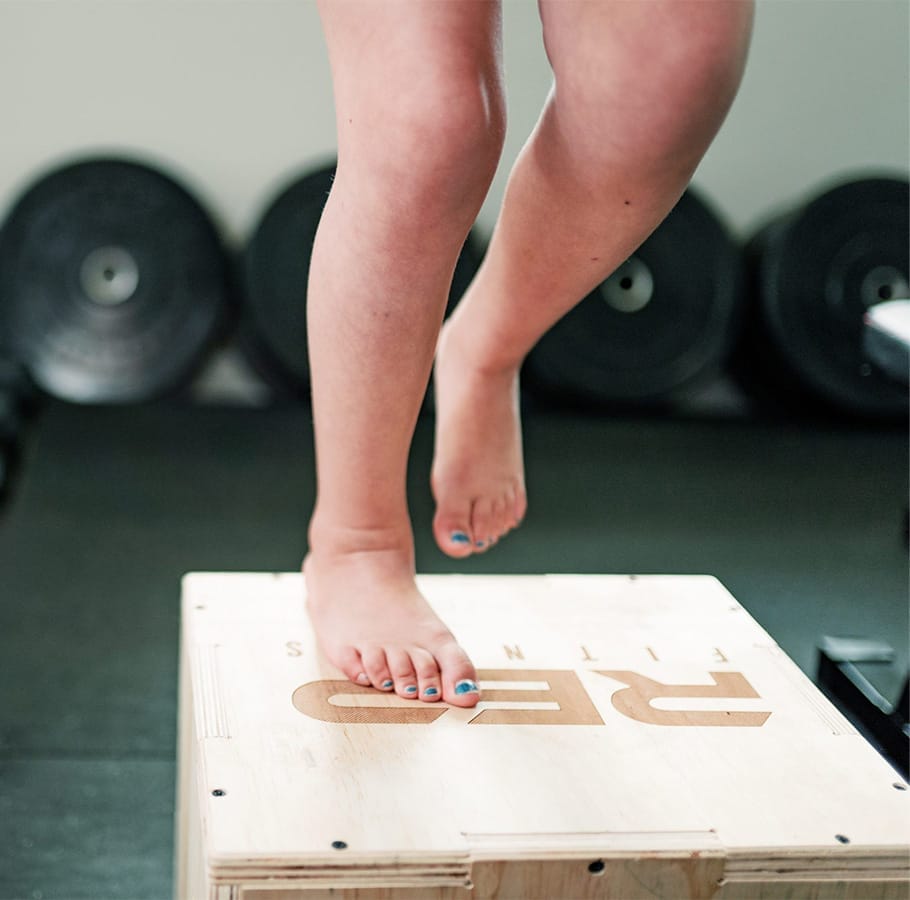
[(433, 534), (443, 553), (488, 550), (524, 518), (518, 371), (472, 365), (446, 323), (433, 370)]

